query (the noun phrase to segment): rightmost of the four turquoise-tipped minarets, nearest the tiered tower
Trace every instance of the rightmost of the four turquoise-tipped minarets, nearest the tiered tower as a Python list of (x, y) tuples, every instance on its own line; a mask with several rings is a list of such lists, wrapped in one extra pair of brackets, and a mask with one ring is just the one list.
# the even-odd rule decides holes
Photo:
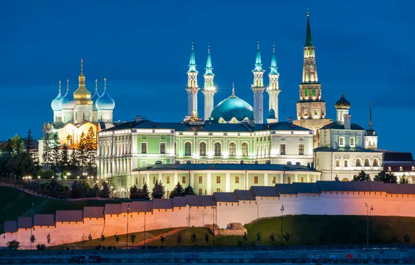
[(268, 107), (269, 107), (269, 112), (271, 112), (271, 109), (274, 112), (274, 118), (272, 119), (272, 123), (274, 123), (274, 122), (278, 122), (278, 109), (279, 109), (278, 96), (279, 96), (279, 93), (281, 92), (281, 90), (279, 89), (279, 84), (278, 84), (279, 73), (277, 71), (278, 68), (276, 67), (275, 45), (272, 45), (272, 59), (271, 59), (270, 69), (271, 70), (268, 74), (269, 86), (267, 87), (267, 92), (269, 95), (269, 106)]

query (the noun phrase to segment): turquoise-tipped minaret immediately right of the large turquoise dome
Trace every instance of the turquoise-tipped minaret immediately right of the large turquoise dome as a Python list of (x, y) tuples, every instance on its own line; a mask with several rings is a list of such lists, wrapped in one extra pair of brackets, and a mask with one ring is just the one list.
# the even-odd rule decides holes
[(263, 123), (264, 119), (264, 72), (262, 68), (263, 64), (261, 63), (261, 54), (259, 49), (259, 40), (258, 40), (258, 49), (256, 51), (255, 59), (255, 69), (252, 70), (253, 73), (253, 84), (251, 84), (251, 89), (253, 91), (253, 119), (255, 123)]

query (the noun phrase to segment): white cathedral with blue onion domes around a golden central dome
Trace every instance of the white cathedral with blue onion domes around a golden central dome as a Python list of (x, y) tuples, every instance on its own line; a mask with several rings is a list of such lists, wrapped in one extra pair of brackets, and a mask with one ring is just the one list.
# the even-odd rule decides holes
[(52, 137), (58, 135), (61, 146), (66, 144), (70, 151), (77, 149), (79, 137), (86, 135), (89, 128), (93, 128), (95, 134), (100, 130), (113, 126), (113, 109), (115, 101), (107, 91), (107, 79), (104, 79), (104, 91), (98, 93), (97, 79), (95, 79), (95, 91), (86, 88), (84, 75), (84, 61), (81, 60), (81, 74), (79, 75), (77, 90), (70, 91), (69, 79), (66, 91), (62, 96), (61, 81), (59, 81), (58, 96), (52, 100), (51, 107), (54, 113), (53, 122), (45, 123), (44, 136), (39, 140), (38, 157), (43, 161), (46, 132), (49, 132), (49, 143), (53, 146)]

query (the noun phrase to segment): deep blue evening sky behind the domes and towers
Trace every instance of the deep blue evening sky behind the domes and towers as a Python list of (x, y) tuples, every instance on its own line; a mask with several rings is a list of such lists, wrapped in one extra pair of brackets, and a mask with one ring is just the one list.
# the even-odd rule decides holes
[[(341, 3), (340, 3), (341, 2)], [(302, 79), (306, 6), (327, 116), (342, 91), (352, 122), (368, 126), (368, 103), (379, 148), (414, 151), (414, 1), (3, 1), (0, 8), (0, 139), (29, 128), (40, 137), (51, 121), (58, 80), (77, 89), (84, 59), (87, 88), (107, 77), (114, 119), (137, 114), (181, 121), (187, 113), (187, 64), (194, 40), (203, 86), (210, 43), (215, 103), (237, 96), (253, 104), (253, 63), (260, 39), (269, 70), (272, 43), (280, 73), (280, 120), (295, 116)], [(267, 73), (266, 73), (267, 74)], [(268, 82), (268, 78), (265, 78)], [(265, 95), (265, 105), (268, 97)], [(203, 94), (199, 93), (203, 116)]]

